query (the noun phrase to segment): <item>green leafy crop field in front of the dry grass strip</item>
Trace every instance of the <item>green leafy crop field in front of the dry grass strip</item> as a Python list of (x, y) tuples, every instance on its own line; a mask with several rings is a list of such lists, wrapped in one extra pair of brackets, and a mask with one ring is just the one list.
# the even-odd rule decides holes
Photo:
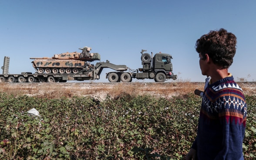
[[(247, 96), (245, 159), (256, 158), (256, 96)], [(47, 99), (0, 93), (0, 159), (181, 160), (196, 135), (201, 98), (122, 93)], [(26, 111), (36, 108), (41, 117)]]

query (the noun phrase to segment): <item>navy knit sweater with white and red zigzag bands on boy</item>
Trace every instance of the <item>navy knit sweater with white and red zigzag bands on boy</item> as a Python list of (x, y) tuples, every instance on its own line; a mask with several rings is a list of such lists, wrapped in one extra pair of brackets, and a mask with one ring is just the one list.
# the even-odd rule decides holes
[(232, 76), (208, 85), (192, 145), (198, 160), (243, 160), (246, 109), (243, 91)]

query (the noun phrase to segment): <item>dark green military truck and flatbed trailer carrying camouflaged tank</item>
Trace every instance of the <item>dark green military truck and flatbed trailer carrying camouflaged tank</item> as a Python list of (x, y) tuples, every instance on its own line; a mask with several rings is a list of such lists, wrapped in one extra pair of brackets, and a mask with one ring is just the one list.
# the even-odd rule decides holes
[[(131, 82), (136, 79), (154, 79), (155, 82), (164, 82), (167, 79), (177, 79), (172, 72), (172, 56), (167, 53), (156, 53), (153, 57), (149, 53), (141, 51), (142, 68), (130, 69), (126, 65), (115, 65), (106, 62), (98, 62), (95, 65), (90, 62), (100, 60), (99, 53), (90, 53), (91, 47), (79, 48), (81, 53), (61, 53), (53, 57), (30, 58), (36, 70), (35, 73), (22, 72), (20, 74), (9, 74), (10, 57), (4, 57), (0, 74), (0, 83), (34, 83), (34, 82), (67, 82), (67, 80), (99, 80), (104, 68), (115, 70), (106, 73), (109, 82)], [(89, 61), (89, 62), (88, 62)], [(126, 72), (125, 72), (126, 71)]]

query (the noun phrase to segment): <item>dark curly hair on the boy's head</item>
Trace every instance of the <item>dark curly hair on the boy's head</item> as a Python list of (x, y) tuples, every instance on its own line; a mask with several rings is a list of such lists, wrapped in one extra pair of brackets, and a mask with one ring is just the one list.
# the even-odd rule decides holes
[(221, 28), (203, 35), (195, 43), (195, 50), (205, 59), (209, 55), (213, 63), (224, 68), (229, 68), (236, 54), (236, 36)]

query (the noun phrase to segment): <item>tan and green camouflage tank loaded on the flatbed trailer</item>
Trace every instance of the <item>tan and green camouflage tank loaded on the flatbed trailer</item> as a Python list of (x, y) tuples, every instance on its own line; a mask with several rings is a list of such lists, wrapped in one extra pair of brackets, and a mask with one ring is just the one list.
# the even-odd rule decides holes
[[(54, 54), (54, 57), (30, 58), (34, 59), (31, 63), (37, 73), (81, 73), (90, 72), (94, 69), (94, 64), (90, 62), (101, 60), (99, 53), (90, 53), (91, 47), (79, 48), (81, 53), (61, 53)], [(89, 61), (89, 62), (88, 62)]]

